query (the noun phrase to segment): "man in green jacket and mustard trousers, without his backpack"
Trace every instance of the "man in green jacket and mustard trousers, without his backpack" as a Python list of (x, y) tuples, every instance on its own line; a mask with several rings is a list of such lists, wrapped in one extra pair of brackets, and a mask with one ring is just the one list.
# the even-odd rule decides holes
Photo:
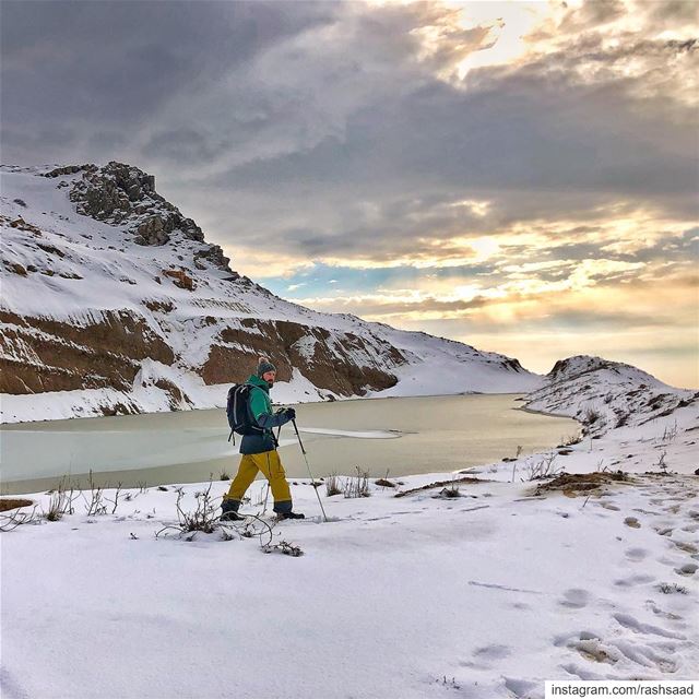
[(240, 441), (242, 458), (238, 473), (221, 505), (222, 520), (244, 519), (238, 514), (240, 500), (258, 475), (258, 471), (261, 471), (270, 483), (274, 498), (274, 511), (279, 518), (304, 519), (300, 512), (292, 511), (292, 491), (286, 481), (284, 466), (280, 461), (280, 454), (276, 451), (276, 438), (272, 433), (273, 427), (281, 427), (296, 417), (296, 411), (293, 407), (280, 408), (276, 413), (272, 412), (270, 389), (274, 386), (275, 378), (276, 368), (274, 365), (266, 357), (260, 357), (256, 374), (246, 381), (252, 387), (249, 402), (252, 425), (259, 426), (261, 429), (244, 435)]

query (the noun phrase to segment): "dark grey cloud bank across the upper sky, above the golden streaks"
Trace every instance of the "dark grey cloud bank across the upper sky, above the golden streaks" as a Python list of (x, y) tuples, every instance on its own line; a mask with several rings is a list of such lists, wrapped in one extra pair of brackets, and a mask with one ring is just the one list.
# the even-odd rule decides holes
[[(696, 116), (668, 93), (696, 47), (605, 44), (621, 2), (570, 10), (549, 27), (564, 47), (463, 83), (437, 73), (488, 27), (429, 3), (0, 8), (4, 158), (132, 162), (220, 244), (386, 261), (516, 223), (594, 225), (619, 202), (697, 213)], [(621, 75), (630, 58), (641, 68)]]

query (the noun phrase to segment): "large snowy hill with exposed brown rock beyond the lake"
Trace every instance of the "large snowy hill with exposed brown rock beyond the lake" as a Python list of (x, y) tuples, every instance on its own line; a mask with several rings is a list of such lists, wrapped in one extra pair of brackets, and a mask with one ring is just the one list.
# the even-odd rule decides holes
[(543, 383), (500, 354), (285, 301), (234, 272), (135, 167), (0, 178), (3, 422), (221, 406), (261, 352), (283, 401)]

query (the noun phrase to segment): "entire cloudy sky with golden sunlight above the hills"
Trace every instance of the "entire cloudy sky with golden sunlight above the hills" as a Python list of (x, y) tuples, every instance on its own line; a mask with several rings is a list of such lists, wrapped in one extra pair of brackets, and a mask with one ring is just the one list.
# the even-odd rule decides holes
[(3, 163), (130, 163), (230, 266), (699, 388), (699, 3), (2, 0)]

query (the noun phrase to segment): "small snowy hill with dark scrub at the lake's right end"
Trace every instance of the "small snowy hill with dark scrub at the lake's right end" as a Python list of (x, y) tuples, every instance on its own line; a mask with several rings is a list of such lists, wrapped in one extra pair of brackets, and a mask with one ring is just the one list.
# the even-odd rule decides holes
[(544, 454), (470, 473), (508, 481), (595, 471), (699, 475), (699, 392), (672, 388), (636, 367), (600, 357), (564, 359), (525, 407), (573, 417), (580, 434)]

